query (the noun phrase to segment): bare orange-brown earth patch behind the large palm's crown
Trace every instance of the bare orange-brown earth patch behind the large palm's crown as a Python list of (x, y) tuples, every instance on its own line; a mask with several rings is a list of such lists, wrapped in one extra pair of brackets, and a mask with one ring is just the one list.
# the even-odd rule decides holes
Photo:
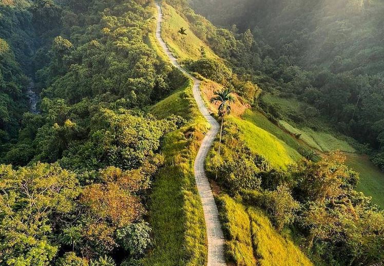
[[(221, 90), (223, 86), (221, 86), (218, 83), (215, 83), (213, 81), (203, 81), (201, 83), (201, 93), (206, 103), (208, 103), (208, 108), (211, 112), (217, 113), (217, 107), (219, 106), (219, 103), (212, 104), (210, 103), (210, 99), (214, 96), (214, 92), (217, 90)], [(235, 96), (235, 103), (231, 105), (231, 114), (240, 117), (246, 109), (251, 108), (251, 106), (238, 96), (236, 93), (233, 93)]]

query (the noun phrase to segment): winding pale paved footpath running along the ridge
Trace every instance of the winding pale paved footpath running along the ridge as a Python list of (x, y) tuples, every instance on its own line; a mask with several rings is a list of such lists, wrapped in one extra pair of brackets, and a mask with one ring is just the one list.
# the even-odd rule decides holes
[(184, 74), (189, 78), (193, 79), (193, 93), (195, 100), (199, 106), (199, 110), (202, 115), (208, 120), (210, 124), (210, 130), (206, 134), (199, 152), (195, 159), (194, 171), (196, 185), (199, 191), (200, 199), (203, 205), (205, 225), (207, 229), (207, 238), (208, 238), (208, 263), (207, 266), (223, 266), (226, 265), (224, 258), (224, 236), (223, 231), (221, 230), (221, 224), (219, 220), (219, 212), (215, 203), (212, 190), (210, 189), (208, 178), (205, 175), (204, 161), (208, 154), (209, 149), (212, 147), (215, 137), (219, 132), (220, 125), (208, 112), (205, 107), (204, 101), (201, 98), (200, 94), (200, 81), (190, 75), (184, 68), (180, 66), (177, 62), (175, 56), (170, 52), (167, 45), (161, 37), (161, 23), (163, 21), (163, 13), (159, 3), (156, 3), (158, 9), (158, 20), (156, 28), (156, 38), (159, 41), (164, 52), (167, 54), (171, 63), (180, 69)]

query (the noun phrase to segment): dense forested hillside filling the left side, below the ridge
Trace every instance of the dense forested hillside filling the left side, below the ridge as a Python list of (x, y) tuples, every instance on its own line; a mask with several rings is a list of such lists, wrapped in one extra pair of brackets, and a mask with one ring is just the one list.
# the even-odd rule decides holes
[(147, 44), (152, 6), (0, 9), (0, 264), (135, 264), (153, 243), (146, 214), (160, 141), (185, 122), (146, 112), (186, 82)]

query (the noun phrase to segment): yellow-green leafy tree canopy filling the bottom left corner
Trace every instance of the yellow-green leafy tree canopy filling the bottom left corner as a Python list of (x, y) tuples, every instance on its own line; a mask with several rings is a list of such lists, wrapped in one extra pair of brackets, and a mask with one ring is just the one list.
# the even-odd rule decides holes
[(80, 188), (73, 174), (57, 165), (37, 164), (18, 170), (0, 166), (0, 262), (49, 265), (58, 245), (47, 235), (54, 220), (74, 210)]

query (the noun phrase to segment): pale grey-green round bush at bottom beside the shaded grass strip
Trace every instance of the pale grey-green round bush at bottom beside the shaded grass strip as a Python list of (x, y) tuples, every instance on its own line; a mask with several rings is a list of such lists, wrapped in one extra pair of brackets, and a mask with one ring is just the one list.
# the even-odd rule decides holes
[(148, 223), (132, 223), (117, 231), (117, 239), (132, 257), (139, 257), (152, 245), (150, 232)]

